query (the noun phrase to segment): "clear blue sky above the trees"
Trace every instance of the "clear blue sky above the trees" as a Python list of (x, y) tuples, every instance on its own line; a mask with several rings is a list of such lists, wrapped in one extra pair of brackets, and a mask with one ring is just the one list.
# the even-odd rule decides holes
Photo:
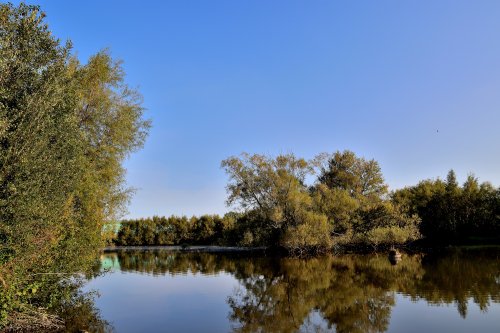
[(144, 96), (129, 217), (225, 212), (220, 161), (243, 151), (350, 149), (392, 189), (450, 168), (500, 185), (500, 1), (36, 3)]

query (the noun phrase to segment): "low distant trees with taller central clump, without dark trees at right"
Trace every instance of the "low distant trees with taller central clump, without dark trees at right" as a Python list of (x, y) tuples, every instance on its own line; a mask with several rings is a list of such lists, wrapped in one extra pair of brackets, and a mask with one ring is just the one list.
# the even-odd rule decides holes
[[(243, 154), (222, 166), (230, 177), (228, 203), (238, 213), (124, 221), (115, 243), (273, 246), (302, 253), (419, 238), (420, 219), (389, 200), (378, 163), (350, 151), (312, 161)], [(316, 181), (307, 185), (313, 174)]]

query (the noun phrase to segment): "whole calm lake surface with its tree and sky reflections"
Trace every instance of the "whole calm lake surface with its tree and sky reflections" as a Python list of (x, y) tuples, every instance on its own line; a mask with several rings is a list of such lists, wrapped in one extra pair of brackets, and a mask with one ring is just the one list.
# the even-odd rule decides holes
[(106, 253), (87, 289), (117, 332), (500, 332), (500, 250), (291, 259)]

